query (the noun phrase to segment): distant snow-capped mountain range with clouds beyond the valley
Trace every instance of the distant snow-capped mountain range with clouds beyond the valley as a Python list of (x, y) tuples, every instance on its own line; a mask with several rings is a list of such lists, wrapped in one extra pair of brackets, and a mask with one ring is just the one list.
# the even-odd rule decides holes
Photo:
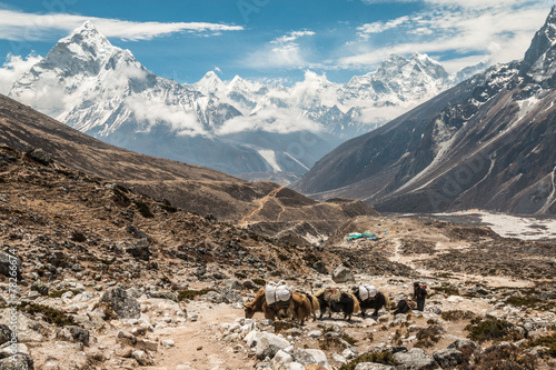
[(215, 72), (180, 84), (148, 71), (86, 22), (9, 96), (118, 147), (289, 183), (344, 140), (453, 83), (440, 64), (415, 54), (390, 56), (375, 73), (346, 84), (310, 71), (290, 88), (239, 77), (225, 83)]

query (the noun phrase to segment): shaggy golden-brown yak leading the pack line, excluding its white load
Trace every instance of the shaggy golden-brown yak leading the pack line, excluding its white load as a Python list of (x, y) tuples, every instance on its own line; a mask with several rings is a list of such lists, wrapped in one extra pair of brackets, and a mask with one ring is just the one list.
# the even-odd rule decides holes
[(299, 320), (299, 324), (304, 324), (305, 319), (311, 316), (311, 302), (301, 293), (294, 292), (289, 300), (289, 306), (285, 309), (277, 308), (274, 304), (267, 304), (265, 297), (265, 288), (259, 289), (255, 299), (245, 304), (245, 317), (250, 319), (255, 312), (262, 312), (265, 319), (276, 320), (292, 318)]

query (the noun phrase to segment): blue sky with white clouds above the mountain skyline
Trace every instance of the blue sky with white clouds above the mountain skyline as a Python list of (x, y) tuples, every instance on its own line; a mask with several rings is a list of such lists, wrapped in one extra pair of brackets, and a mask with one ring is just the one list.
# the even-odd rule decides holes
[(391, 52), (427, 53), (455, 71), (523, 58), (553, 1), (0, 0), (0, 83), (88, 19), (179, 82), (216, 70), (222, 80), (288, 83), (307, 69), (347, 82)]

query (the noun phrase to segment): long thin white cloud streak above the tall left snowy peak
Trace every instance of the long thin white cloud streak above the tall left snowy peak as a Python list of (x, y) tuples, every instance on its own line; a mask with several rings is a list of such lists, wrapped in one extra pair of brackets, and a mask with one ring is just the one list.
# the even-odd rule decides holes
[(240, 31), (241, 26), (208, 22), (131, 22), (120, 19), (85, 17), (68, 13), (36, 14), (0, 9), (0, 39), (11, 41), (43, 40), (54, 31), (71, 31), (90, 20), (108, 38), (122, 40), (149, 40), (176, 32), (219, 34), (224, 31)]

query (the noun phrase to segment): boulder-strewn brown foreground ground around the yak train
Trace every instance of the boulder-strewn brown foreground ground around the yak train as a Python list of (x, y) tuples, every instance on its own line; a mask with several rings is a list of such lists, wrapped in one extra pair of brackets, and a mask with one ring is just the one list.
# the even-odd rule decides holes
[[(363, 231), (377, 240), (346, 240)], [(357, 217), (326, 241), (276, 240), (2, 148), (0, 247), (0, 369), (556, 367), (556, 248), (484, 227)], [(425, 312), (349, 322), (245, 319), (280, 279), (373, 283), (391, 302), (418, 280), (429, 297)]]

